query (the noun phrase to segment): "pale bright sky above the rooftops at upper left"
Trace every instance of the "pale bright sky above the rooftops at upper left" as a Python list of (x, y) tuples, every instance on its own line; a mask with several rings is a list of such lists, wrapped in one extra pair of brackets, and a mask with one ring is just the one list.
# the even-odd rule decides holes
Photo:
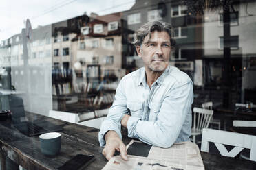
[(30, 19), (32, 28), (94, 12), (99, 15), (129, 10), (135, 0), (1, 0), (0, 41), (19, 34)]

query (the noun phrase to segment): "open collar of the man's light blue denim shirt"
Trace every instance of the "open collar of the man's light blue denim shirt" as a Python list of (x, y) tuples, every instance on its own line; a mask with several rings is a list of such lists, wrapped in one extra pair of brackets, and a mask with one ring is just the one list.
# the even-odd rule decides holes
[[(158, 77), (158, 79), (156, 80), (156, 84), (162, 85), (162, 83), (164, 82), (164, 77), (166, 77), (167, 73), (169, 72), (170, 66), (167, 66), (167, 68), (164, 70), (164, 73), (162, 73), (162, 75), (160, 75), (160, 77)], [(143, 67), (143, 69), (140, 71), (139, 76), (138, 76), (138, 82), (137, 85), (145, 86), (147, 84), (146, 82), (146, 73), (145, 73), (145, 68)]]

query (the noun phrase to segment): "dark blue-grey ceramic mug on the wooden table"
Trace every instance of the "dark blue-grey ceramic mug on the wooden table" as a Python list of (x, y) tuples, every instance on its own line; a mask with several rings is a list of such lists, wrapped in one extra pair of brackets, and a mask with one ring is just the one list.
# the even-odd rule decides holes
[(50, 132), (39, 136), (40, 149), (45, 155), (56, 155), (61, 151), (61, 134)]

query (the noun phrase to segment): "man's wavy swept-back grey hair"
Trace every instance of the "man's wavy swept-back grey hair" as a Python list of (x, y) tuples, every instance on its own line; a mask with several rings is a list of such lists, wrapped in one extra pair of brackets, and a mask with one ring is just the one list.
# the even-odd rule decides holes
[(143, 24), (138, 31), (136, 32), (136, 40), (134, 41), (135, 46), (142, 45), (144, 38), (149, 34), (149, 38), (151, 38), (152, 32), (167, 32), (170, 36), (171, 47), (174, 47), (175, 40), (173, 40), (173, 28), (171, 24), (165, 23), (162, 21), (149, 21)]

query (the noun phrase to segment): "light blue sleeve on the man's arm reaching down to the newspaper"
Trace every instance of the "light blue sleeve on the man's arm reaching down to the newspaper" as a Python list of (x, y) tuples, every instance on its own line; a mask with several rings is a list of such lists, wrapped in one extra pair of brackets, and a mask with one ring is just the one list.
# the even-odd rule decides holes
[(120, 121), (128, 113), (127, 99), (123, 93), (123, 89), (123, 81), (121, 80), (118, 88), (116, 88), (115, 100), (109, 109), (106, 119), (101, 124), (100, 132), (98, 133), (98, 141), (101, 147), (105, 145), (104, 136), (109, 130), (114, 130), (122, 138)]

